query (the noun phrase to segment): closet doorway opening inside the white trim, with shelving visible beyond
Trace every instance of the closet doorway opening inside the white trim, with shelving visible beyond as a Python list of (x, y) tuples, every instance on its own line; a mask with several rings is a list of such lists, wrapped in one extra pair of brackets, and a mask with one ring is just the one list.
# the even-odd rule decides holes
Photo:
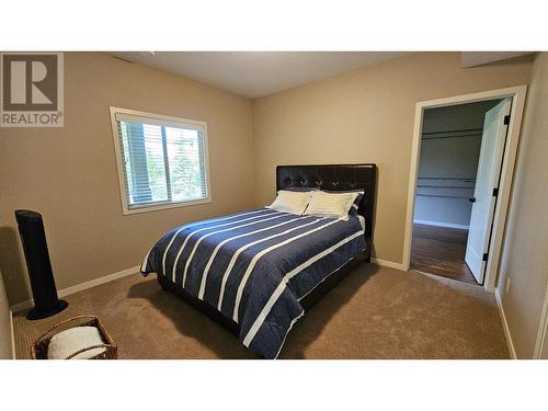
[[(500, 175), (502, 156), (494, 151), (504, 146), (506, 136), (498, 135), (503, 123), (499, 117), (510, 114), (511, 99), (501, 103), (488, 100), (424, 111), (411, 269), (465, 283), (483, 282), (477, 250), (482, 256), (483, 240), (490, 235), (486, 222), (492, 218), (486, 208), (490, 198), (483, 195), (492, 183), (484, 180)], [(502, 144), (494, 145), (498, 140)]]

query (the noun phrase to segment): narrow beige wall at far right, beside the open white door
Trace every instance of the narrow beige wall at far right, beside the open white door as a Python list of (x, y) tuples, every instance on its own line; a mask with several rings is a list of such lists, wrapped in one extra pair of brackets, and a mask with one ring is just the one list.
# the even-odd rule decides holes
[(547, 159), (548, 53), (541, 53), (533, 65), (496, 287), (518, 358), (534, 354), (548, 282)]

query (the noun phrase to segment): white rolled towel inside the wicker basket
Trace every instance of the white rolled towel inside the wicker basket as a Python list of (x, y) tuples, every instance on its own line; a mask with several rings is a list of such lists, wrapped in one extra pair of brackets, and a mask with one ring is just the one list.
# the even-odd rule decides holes
[[(87, 346), (103, 344), (101, 334), (96, 327), (75, 327), (55, 334), (49, 340), (47, 347), (48, 359), (65, 359), (70, 354), (76, 353)], [(106, 349), (93, 349), (84, 351), (71, 359), (89, 359), (105, 352)]]

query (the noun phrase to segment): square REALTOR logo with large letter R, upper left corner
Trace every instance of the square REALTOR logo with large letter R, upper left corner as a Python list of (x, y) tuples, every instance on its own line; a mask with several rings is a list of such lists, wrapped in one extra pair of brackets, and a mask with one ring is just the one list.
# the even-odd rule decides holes
[(62, 53), (0, 54), (0, 127), (62, 127)]

